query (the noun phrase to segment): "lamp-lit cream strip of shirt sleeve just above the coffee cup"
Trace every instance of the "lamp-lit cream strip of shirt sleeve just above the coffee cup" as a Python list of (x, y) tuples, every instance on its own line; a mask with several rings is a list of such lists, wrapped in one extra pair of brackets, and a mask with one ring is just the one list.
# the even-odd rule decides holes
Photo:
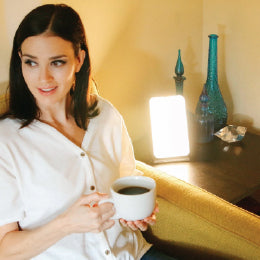
[(131, 138), (127, 132), (124, 121), (122, 120), (122, 150), (120, 161), (120, 177), (128, 175), (140, 175), (136, 169), (135, 156)]

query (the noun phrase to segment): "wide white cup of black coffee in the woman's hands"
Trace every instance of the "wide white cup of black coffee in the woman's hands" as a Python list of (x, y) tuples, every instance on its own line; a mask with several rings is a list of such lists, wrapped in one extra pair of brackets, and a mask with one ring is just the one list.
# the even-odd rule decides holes
[[(133, 190), (143, 193), (122, 194), (122, 192), (133, 193)], [(111, 198), (102, 200), (100, 203), (111, 202), (114, 204), (116, 214), (113, 219), (142, 220), (153, 213), (156, 183), (152, 178), (145, 176), (122, 177), (112, 184), (110, 192)]]

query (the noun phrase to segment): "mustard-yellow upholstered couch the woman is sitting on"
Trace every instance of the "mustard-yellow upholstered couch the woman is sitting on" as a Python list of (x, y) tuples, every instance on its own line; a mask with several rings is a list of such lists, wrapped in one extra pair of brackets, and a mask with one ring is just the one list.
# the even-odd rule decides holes
[(160, 212), (147, 240), (179, 259), (260, 259), (258, 216), (142, 162), (137, 168), (157, 183)]

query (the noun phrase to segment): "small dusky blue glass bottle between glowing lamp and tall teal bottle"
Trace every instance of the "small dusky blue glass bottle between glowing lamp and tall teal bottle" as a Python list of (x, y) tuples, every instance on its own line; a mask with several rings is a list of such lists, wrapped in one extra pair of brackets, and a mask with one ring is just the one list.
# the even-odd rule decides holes
[(196, 115), (196, 141), (198, 143), (208, 143), (213, 139), (214, 116), (209, 111), (209, 97), (207, 95), (206, 84), (200, 95)]

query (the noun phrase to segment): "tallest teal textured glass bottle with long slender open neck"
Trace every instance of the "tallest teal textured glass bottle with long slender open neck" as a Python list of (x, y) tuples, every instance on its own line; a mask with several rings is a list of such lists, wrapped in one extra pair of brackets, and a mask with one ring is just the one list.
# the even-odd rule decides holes
[[(218, 85), (217, 68), (217, 40), (218, 35), (209, 35), (208, 74), (205, 89), (208, 96), (208, 110), (214, 117), (214, 132), (226, 126), (227, 107)], [(196, 113), (200, 109), (198, 102)]]

